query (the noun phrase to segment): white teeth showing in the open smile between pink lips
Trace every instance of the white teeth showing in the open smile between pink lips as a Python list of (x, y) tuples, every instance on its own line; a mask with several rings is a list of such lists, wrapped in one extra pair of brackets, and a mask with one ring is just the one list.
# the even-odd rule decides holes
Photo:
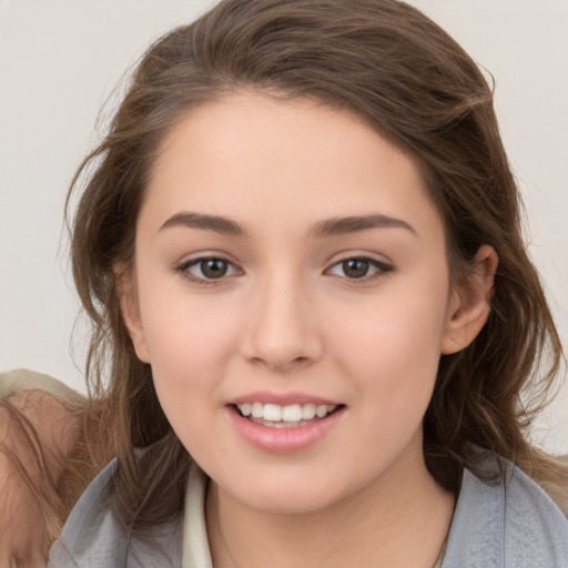
[(343, 404), (264, 404), (260, 402), (230, 405), (239, 416), (268, 428), (301, 428), (325, 420), (342, 410)]

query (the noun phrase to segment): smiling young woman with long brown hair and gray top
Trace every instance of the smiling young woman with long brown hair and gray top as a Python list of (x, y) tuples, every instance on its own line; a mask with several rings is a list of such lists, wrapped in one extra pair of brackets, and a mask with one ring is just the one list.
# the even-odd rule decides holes
[(425, 16), (223, 1), (72, 192), (91, 395), (30, 476), (50, 535), (115, 459), (51, 566), (567, 565), (567, 470), (525, 436), (560, 342), (491, 91)]

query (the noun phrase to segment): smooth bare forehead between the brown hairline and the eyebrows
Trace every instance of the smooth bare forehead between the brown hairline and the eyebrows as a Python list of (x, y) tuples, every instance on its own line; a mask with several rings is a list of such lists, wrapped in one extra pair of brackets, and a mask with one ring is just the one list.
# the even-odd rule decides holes
[(420, 171), (355, 114), (312, 100), (241, 92), (183, 116), (162, 143), (142, 207), (165, 220), (197, 210), (253, 223), (306, 223), (369, 211), (426, 211)]

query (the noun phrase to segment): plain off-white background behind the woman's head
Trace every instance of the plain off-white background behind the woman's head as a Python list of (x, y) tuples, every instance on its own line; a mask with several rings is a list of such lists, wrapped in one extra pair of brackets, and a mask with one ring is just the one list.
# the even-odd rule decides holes
[[(67, 186), (124, 71), (151, 39), (213, 3), (0, 0), (0, 371), (33, 368), (84, 390), (84, 326), (70, 347), (79, 306), (62, 230)], [(530, 252), (568, 344), (568, 0), (410, 3), (496, 78)], [(568, 452), (567, 385), (534, 437)]]

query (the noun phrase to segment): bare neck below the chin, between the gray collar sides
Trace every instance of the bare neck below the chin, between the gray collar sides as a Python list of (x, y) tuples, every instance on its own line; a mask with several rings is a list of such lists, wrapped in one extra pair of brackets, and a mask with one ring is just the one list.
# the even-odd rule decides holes
[(212, 483), (206, 519), (213, 566), (432, 568), (449, 530), (454, 501), (428, 474), (422, 453), (418, 459), (400, 456), (381, 479), (305, 514), (251, 509)]

